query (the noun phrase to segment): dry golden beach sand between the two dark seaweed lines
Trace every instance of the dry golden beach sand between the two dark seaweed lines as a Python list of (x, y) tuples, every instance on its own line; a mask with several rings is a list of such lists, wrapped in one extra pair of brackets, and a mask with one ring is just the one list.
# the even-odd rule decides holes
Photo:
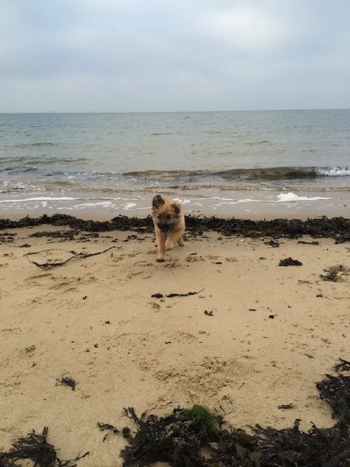
[[(0, 451), (47, 426), (60, 459), (121, 466), (125, 440), (103, 442), (98, 422), (134, 429), (128, 406), (204, 404), (244, 429), (334, 424), (315, 383), (349, 359), (349, 242), (209, 232), (157, 263), (153, 234), (31, 236), (66, 229), (0, 232)], [(279, 266), (288, 257), (302, 266)], [(340, 264), (340, 280), (322, 280)]]

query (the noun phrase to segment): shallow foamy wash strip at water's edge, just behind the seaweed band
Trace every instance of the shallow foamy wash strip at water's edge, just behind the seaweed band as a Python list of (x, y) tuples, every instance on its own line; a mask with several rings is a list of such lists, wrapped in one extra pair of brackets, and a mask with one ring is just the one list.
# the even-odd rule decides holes
[[(186, 192), (165, 193), (176, 199), (185, 215), (240, 218), (252, 220), (302, 219), (309, 217), (349, 217), (350, 192), (296, 192), (279, 199), (276, 192), (223, 192), (220, 196), (191, 195)], [(118, 215), (147, 217), (151, 214), (152, 194), (123, 194), (122, 197), (86, 199), (75, 197), (32, 197), (4, 201), (0, 199), (0, 217), (20, 219), (26, 215), (39, 217), (56, 213), (73, 215), (84, 220), (107, 221)]]

